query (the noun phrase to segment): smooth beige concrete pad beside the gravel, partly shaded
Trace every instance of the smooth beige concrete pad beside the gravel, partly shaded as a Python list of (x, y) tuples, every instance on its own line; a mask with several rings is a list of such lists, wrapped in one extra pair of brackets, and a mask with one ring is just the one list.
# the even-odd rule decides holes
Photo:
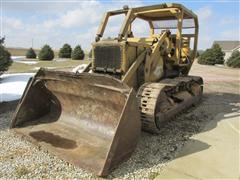
[(239, 124), (239, 113), (218, 114), (156, 179), (240, 179)]

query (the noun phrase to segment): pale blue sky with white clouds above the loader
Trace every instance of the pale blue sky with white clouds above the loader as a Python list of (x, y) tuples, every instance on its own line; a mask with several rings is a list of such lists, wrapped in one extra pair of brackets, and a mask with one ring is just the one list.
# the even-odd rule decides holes
[[(0, 0), (0, 36), (8, 47), (40, 48), (49, 44), (59, 49), (64, 43), (80, 44), (89, 50), (103, 13), (121, 9), (161, 4), (160, 0)], [(178, 1), (198, 15), (198, 49), (211, 47), (214, 40), (240, 39), (239, 0)], [(114, 17), (106, 35), (117, 34), (122, 17)], [(136, 24), (141, 35), (145, 24)]]

